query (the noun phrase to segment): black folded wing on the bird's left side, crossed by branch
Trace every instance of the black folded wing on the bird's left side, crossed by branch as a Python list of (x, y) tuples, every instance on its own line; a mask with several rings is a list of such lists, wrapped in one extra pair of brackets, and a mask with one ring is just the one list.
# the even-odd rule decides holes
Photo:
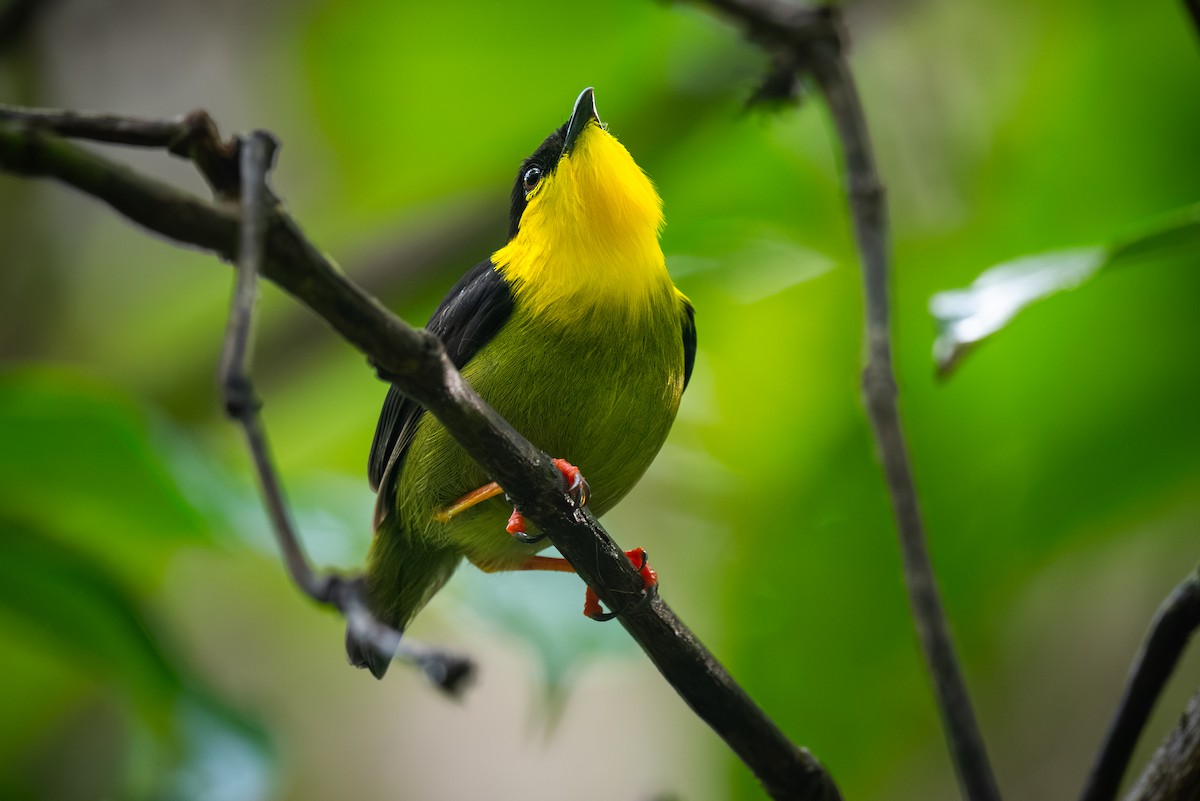
[[(458, 279), (425, 327), (442, 339), (450, 361), (462, 369), (496, 336), (510, 314), (512, 291), (491, 259), (485, 259)], [(424, 411), (424, 406), (395, 386), (388, 390), (367, 459), (371, 489), (379, 490), (389, 470), (403, 458)], [(379, 512), (386, 513), (388, 506), (390, 504), (377, 507), (377, 524), (382, 519)]]

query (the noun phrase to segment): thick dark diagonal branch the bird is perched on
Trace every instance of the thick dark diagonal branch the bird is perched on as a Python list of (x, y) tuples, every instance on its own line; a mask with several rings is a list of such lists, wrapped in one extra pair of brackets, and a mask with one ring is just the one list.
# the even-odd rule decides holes
[[(6, 109), (0, 116), (0, 169), (58, 179), (104, 200), (150, 230), (227, 260), (235, 258), (240, 241), (235, 210), (136, 174), (48, 135), (44, 127), (38, 126), (37, 114), (25, 120), (19, 110)], [(173, 147), (173, 152), (178, 150)], [(203, 165), (198, 167), (209, 176)], [(223, 180), (222, 170), (216, 171), (216, 177), (217, 185), (232, 186)], [(626, 610), (619, 618), (622, 625), (773, 797), (841, 797), (816, 759), (787, 740), (664, 600), (631, 603), (646, 597), (637, 570), (590, 511), (576, 507), (564, 494), (560, 474), (550, 457), (467, 385), (437, 337), (407, 325), (350, 282), (302, 236), (280, 206), (268, 210), (265, 225), (263, 275), (317, 312), (367, 355), (380, 377), (437, 416), (526, 517), (550, 536), (608, 608)]]

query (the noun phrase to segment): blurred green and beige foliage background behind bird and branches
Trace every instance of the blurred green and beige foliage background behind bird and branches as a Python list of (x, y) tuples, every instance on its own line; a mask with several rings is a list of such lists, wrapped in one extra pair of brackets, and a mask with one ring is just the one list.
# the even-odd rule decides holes
[[(5, 4), (0, 4), (2, 7)], [(679, 421), (606, 519), (850, 799), (953, 799), (858, 398), (860, 282), (820, 102), (748, 113), (764, 60), (690, 6), (46, 0), (0, 101), (283, 141), (274, 185), (413, 323), (505, 229), (520, 159), (596, 88), (658, 183), (697, 308)], [(1012, 797), (1075, 793), (1154, 608), (1200, 554), (1200, 264), (1103, 272), (935, 379), (930, 297), (1200, 199), (1180, 2), (863, 1), (853, 67), (889, 188), (901, 406), (931, 550)], [(109, 151), (203, 192), (188, 165)], [(286, 580), (215, 369), (232, 273), (0, 175), (0, 795), (761, 797), (571, 576), (463, 568), (413, 636), (462, 701), (344, 662)], [(306, 544), (361, 565), (384, 396), (274, 287), (256, 375)], [(1181, 666), (1140, 760), (1200, 679)]]

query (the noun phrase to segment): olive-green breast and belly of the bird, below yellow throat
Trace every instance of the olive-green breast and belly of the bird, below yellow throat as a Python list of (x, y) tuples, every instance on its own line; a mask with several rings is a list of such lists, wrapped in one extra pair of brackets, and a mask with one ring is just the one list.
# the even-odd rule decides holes
[[(535, 318), (518, 297), (463, 375), (534, 445), (578, 466), (592, 488), (590, 508), (602, 514), (641, 478), (674, 420), (684, 374), (680, 325), (673, 290), (638, 315), (592, 308), (569, 324)], [(433, 520), (438, 508), (488, 481), (424, 415), (397, 486), (401, 536), (450, 546), (484, 567), (520, 564), (538, 548), (504, 530), (511, 506), (503, 496), (450, 523)]]

